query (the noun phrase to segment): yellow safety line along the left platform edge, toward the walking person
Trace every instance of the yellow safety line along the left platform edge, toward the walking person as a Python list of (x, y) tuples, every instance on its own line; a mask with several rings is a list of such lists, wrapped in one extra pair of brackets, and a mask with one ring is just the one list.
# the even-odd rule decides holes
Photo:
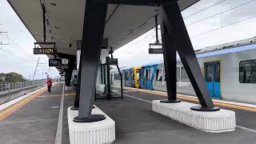
[(39, 90), (38, 92), (31, 94), (29, 97), (22, 99), (21, 101), (15, 103), (14, 105), (6, 107), (6, 109), (0, 111), (0, 121), (2, 121), (4, 118), (7, 118), (10, 114), (13, 114), (15, 111), (20, 109), (22, 106), (25, 106), (26, 103), (31, 102), (34, 98), (36, 98), (39, 94), (42, 94), (46, 90), (45, 88), (42, 88), (42, 90)]

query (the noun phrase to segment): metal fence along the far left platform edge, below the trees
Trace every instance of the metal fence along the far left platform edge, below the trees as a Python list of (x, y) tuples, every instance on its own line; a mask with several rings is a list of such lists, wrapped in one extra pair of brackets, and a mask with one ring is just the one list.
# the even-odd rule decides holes
[(10, 94), (14, 91), (24, 90), (34, 86), (40, 86), (45, 84), (45, 80), (36, 81), (26, 81), (26, 82), (10, 82), (10, 83), (0, 83), (0, 95)]

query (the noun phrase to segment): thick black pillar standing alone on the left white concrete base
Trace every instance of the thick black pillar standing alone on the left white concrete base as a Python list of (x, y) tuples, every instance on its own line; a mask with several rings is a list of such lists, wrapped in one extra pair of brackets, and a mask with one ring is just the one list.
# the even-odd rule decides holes
[(78, 117), (74, 122), (97, 122), (104, 115), (91, 114), (91, 105), (95, 94), (95, 85), (102, 39), (106, 21), (107, 3), (86, 0), (86, 10), (82, 38), (81, 84)]

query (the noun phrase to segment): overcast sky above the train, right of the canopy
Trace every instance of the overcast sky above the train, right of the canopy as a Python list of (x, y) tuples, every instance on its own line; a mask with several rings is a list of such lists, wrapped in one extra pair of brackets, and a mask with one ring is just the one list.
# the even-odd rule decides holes
[[(216, 3), (219, 4), (213, 6)], [(201, 10), (202, 12), (194, 14)], [(213, 15), (216, 16), (209, 18)], [(194, 50), (256, 36), (256, 18), (254, 18), (256, 17), (256, 0), (201, 0), (183, 10), (182, 16), (185, 18)], [(202, 19), (206, 20), (198, 22)], [(238, 23), (232, 25), (235, 22)], [(194, 24), (191, 25), (192, 23)], [(210, 30), (213, 31), (209, 32)], [(162, 54), (148, 54), (149, 43), (153, 42), (155, 42), (155, 32), (150, 30), (116, 50), (114, 57), (119, 58), (120, 66), (128, 67), (162, 62)]]

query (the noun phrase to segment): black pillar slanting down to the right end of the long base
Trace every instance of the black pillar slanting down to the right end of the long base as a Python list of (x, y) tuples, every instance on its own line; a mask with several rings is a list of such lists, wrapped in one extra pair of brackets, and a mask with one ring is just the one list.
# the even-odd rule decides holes
[(178, 2), (173, 1), (160, 6), (160, 13), (171, 39), (174, 39), (174, 44), (182, 64), (201, 104), (201, 106), (191, 107), (191, 110), (219, 110), (218, 107), (214, 106), (206, 88), (202, 71), (194, 54), (192, 43), (190, 42), (190, 36), (187, 33), (181, 11), (178, 7)]

